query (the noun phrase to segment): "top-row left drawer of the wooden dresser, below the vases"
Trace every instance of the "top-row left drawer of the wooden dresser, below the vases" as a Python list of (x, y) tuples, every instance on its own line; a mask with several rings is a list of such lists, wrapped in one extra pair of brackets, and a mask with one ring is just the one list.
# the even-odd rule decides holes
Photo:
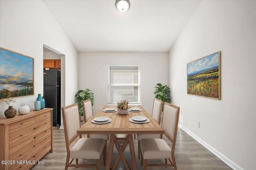
[(18, 121), (16, 123), (12, 123), (9, 125), (9, 134), (12, 134), (14, 132), (20, 131), (26, 127), (29, 127), (30, 125), (35, 124), (35, 117), (30, 117), (28, 119), (24, 119), (21, 121)]

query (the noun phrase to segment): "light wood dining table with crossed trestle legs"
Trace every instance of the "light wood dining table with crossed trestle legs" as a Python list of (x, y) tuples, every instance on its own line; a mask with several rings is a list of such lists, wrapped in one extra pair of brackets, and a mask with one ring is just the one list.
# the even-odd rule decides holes
[[(124, 157), (124, 150), (129, 144), (130, 154), (132, 160), (132, 169), (137, 170), (136, 166), (136, 156), (134, 150), (133, 134), (164, 134), (164, 129), (148, 114), (148, 112), (141, 106), (129, 106), (130, 109), (127, 114), (118, 114), (116, 110), (107, 111), (110, 108), (116, 109), (115, 105), (104, 106), (98, 113), (91, 117), (84, 125), (77, 130), (78, 135), (82, 134), (110, 134), (109, 145), (108, 145), (108, 155), (106, 160), (106, 170), (116, 169), (120, 160), (122, 160), (126, 170), (130, 170), (128, 163)], [(132, 108), (138, 108), (138, 111), (132, 111)], [(133, 120), (135, 116), (146, 117), (146, 123), (136, 122)], [(101, 117), (108, 117), (108, 121), (102, 122), (100, 124), (96, 123), (95, 120)], [(116, 134), (127, 134), (122, 147), (118, 143)], [(111, 167), (112, 153), (114, 149), (114, 144), (118, 150), (119, 155), (117, 156), (114, 164)], [(140, 154), (140, 153), (139, 153)]]

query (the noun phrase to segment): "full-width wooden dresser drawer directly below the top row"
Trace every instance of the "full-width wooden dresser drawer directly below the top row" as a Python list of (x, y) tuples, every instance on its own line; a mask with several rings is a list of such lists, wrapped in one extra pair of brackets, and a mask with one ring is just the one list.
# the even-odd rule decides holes
[(9, 145), (10, 148), (19, 145), (20, 143), (24, 143), (24, 141), (29, 140), (29, 136), (35, 136), (46, 129), (51, 127), (50, 119), (46, 119), (41, 121), (40, 123), (36, 123), (27, 128), (24, 128), (20, 131), (10, 134), (9, 136)]

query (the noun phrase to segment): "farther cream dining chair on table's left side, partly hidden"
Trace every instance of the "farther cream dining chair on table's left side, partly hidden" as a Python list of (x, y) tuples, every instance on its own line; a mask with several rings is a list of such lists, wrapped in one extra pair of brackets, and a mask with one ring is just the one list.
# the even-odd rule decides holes
[[(86, 123), (91, 117), (93, 117), (92, 111), (92, 102), (90, 99), (83, 101), (83, 111), (84, 111), (84, 122)], [(87, 137), (90, 138), (99, 138), (105, 140), (104, 153), (107, 152), (107, 140), (109, 138), (109, 134), (87, 134)], [(104, 155), (106, 157), (106, 155)]]

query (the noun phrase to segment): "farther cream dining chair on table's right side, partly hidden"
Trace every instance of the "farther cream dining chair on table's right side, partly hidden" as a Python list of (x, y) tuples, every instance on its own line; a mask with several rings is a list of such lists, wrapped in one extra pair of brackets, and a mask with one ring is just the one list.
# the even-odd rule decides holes
[[(160, 125), (160, 121), (161, 121), (162, 104), (163, 104), (162, 100), (154, 98), (152, 118), (155, 119), (159, 125)], [(140, 159), (140, 141), (141, 141), (141, 139), (162, 138), (162, 135), (160, 135), (160, 134), (137, 134), (136, 136), (137, 136), (137, 140), (138, 140), (138, 158), (139, 159)]]

